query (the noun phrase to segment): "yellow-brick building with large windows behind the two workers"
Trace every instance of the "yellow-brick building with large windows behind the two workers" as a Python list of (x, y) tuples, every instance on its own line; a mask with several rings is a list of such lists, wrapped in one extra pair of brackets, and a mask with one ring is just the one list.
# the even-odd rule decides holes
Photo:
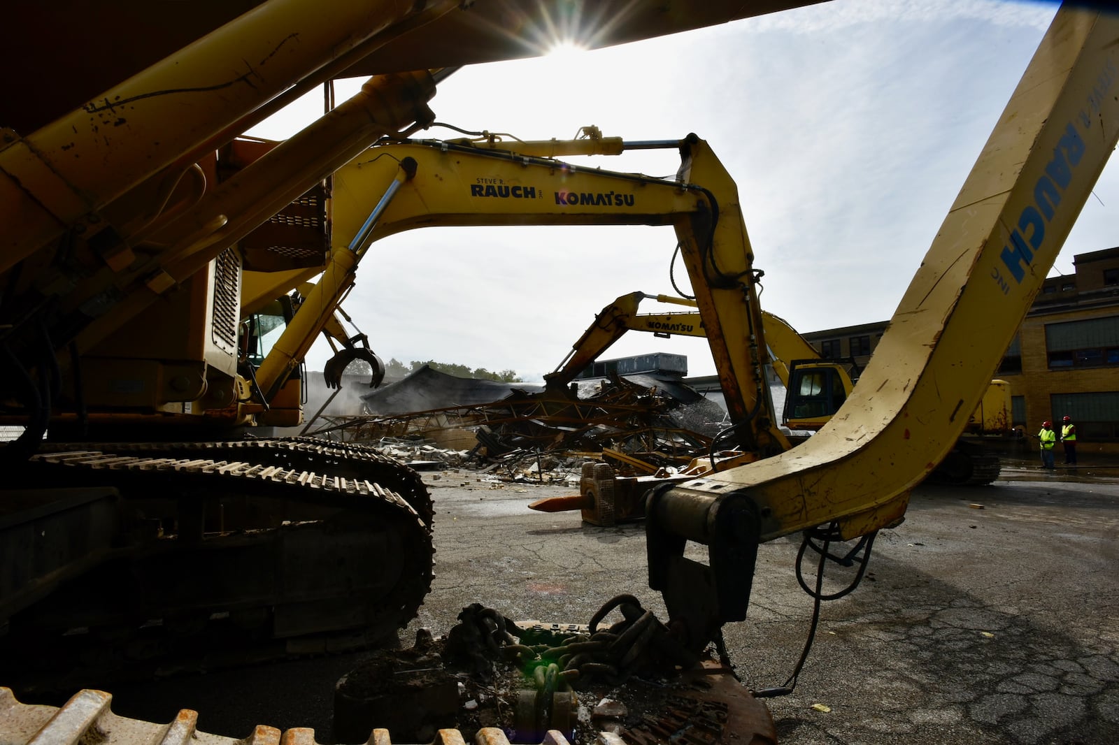
[[(1074, 273), (1049, 277), (1006, 350), (998, 377), (1010, 384), (1016, 426), (1035, 432), (1069, 415), (1088, 450), (1119, 450), (1119, 247), (1073, 258)], [(886, 322), (802, 334), (825, 357), (869, 359)], [(1082, 445), (1082, 447), (1084, 447)]]

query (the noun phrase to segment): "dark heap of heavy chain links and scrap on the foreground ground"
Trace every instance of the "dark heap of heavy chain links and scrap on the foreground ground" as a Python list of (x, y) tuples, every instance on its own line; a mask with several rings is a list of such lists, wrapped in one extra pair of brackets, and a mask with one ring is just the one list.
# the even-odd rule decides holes
[(492, 727), (515, 743), (549, 734), (608, 745), (775, 741), (772, 717), (728, 662), (685, 649), (632, 595), (609, 601), (587, 625), (513, 622), (474, 603), (443, 638), (420, 630), (413, 648), (379, 650), (337, 694), (341, 742), (385, 722), (410, 742), (452, 726), (464, 738)]

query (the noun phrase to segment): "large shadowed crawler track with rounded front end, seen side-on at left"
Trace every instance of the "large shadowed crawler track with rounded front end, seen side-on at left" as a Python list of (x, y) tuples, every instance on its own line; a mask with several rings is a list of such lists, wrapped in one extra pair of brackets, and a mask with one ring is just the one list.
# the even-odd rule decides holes
[(11, 485), (23, 493), (109, 488), (119, 500), (111, 546), (8, 620), (8, 679), (66, 686), (91, 671), (342, 651), (415, 617), (431, 586), (429, 525), (360, 474), (416, 491), (419, 478), (358, 449), (250, 442), (53, 446), (19, 469)]

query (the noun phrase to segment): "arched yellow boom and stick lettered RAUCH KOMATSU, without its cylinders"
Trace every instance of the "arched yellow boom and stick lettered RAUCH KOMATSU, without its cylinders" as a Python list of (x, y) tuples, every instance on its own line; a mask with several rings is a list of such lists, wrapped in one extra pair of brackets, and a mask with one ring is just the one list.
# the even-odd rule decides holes
[[(680, 150), (684, 164), (676, 180), (441, 141), (372, 148), (335, 175), (333, 251), (357, 234), (368, 195), (383, 191), (406, 158), (416, 162), (415, 176), (385, 209), (372, 241), (436, 225), (671, 225), (696, 302), (704, 318), (717, 319), (706, 333), (727, 399), (737, 407), (732, 416), (750, 422), (740, 432), (740, 445), (762, 454), (782, 452), (789, 445), (765, 384), (753, 253), (734, 181), (695, 135), (664, 144)], [(254, 292), (263, 298), (275, 285), (246, 287), (246, 305), (257, 302)]]

